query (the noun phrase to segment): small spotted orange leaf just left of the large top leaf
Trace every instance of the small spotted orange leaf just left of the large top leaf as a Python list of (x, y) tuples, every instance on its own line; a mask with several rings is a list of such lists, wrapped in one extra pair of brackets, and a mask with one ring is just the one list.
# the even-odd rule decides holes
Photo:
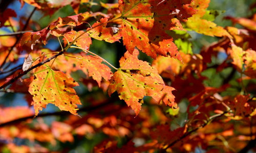
[(116, 27), (106, 28), (106, 22), (108, 22), (108, 18), (109, 17), (101, 18), (99, 22), (97, 21), (92, 25), (92, 28), (95, 27), (94, 29), (91, 29), (91, 30), (90, 28), (88, 29), (90, 30), (88, 31), (88, 34), (90, 35), (90, 37), (94, 39), (110, 42), (110, 43), (119, 41), (119, 39), (121, 39), (121, 33), (119, 32), (118, 28)]

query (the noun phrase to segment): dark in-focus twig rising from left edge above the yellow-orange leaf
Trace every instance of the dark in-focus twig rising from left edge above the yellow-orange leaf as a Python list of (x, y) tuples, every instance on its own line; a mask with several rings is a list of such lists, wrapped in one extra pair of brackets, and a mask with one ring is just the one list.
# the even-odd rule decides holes
[(56, 54), (56, 55), (54, 55), (54, 56), (52, 56), (52, 57), (46, 59), (45, 61), (42, 61), (42, 62), (40, 62), (40, 63), (38, 63), (38, 64), (32, 66), (31, 68), (29, 68), (29, 69), (26, 70), (26, 71), (23, 71), (22, 73), (19, 73), (16, 77), (12, 78), (10, 81), (8, 81), (8, 82), (5, 83), (4, 85), (2, 85), (2, 86), (0, 87), (0, 89), (3, 89), (3, 88), (5, 88), (5, 87), (7, 87), (8, 85), (12, 84), (12, 83), (13, 83), (14, 81), (16, 81), (17, 79), (19, 79), (20, 77), (22, 77), (23, 75), (27, 74), (27, 73), (28, 73), (29, 71), (31, 71), (32, 69), (34, 69), (34, 68), (36, 68), (36, 67), (38, 67), (38, 66), (41, 66), (41, 65), (43, 65), (43, 64), (45, 64), (45, 63), (47, 63), (47, 62), (50, 62), (52, 59), (54, 59), (54, 58), (60, 56), (60, 55), (63, 54), (64, 52), (65, 52), (65, 50), (62, 50), (62, 51), (59, 52), (58, 54)]

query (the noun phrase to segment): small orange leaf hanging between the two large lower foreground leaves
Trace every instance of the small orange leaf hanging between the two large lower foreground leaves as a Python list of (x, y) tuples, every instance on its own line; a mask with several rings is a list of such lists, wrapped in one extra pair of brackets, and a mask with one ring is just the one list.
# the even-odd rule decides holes
[(84, 73), (92, 77), (97, 81), (100, 87), (101, 78), (104, 78), (106, 81), (109, 81), (112, 77), (111, 69), (105, 64), (101, 63), (102, 60), (94, 56), (84, 56), (80, 60), (80, 66)]

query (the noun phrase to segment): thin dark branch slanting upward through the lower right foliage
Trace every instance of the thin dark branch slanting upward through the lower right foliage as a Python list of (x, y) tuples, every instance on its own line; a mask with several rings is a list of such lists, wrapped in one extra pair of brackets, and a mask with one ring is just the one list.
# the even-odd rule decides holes
[(222, 114), (220, 114), (219, 116), (216, 116), (214, 118), (211, 118), (209, 119), (207, 122), (205, 122), (204, 124), (202, 124), (201, 126), (189, 131), (189, 132), (186, 132), (183, 136), (181, 136), (180, 138), (176, 139), (175, 141), (173, 141), (172, 143), (168, 144), (167, 147), (165, 149), (161, 149), (159, 152), (166, 152), (166, 149), (169, 148), (169, 147), (172, 147), (174, 146), (177, 142), (181, 141), (182, 139), (186, 138), (187, 136), (191, 135), (192, 133), (198, 131), (199, 129), (202, 129), (203, 127), (205, 127), (209, 122), (215, 120), (216, 118), (218, 117), (221, 117), (223, 115), (225, 115), (226, 113), (228, 112), (223, 112)]

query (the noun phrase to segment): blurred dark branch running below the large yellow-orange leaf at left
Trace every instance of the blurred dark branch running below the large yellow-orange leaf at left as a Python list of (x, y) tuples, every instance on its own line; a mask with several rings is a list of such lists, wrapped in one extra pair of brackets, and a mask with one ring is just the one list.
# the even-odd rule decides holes
[[(100, 109), (100, 108), (102, 108), (102, 107), (104, 107), (106, 105), (111, 104), (110, 102), (111, 102), (111, 100), (108, 100), (108, 101), (106, 101), (104, 103), (101, 103), (101, 104), (98, 104), (98, 105), (95, 105), (95, 106), (84, 107), (84, 108), (79, 109), (77, 112), (92, 112), (92, 111)], [(12, 124), (15, 124), (15, 123), (26, 121), (27, 119), (32, 119), (32, 118), (37, 118), (37, 117), (63, 116), (63, 115), (71, 115), (71, 113), (67, 112), (67, 111), (61, 111), (61, 112), (39, 114), (37, 116), (31, 115), (31, 116), (27, 116), (27, 117), (23, 117), (23, 118), (18, 118), (18, 119), (9, 121), (9, 122), (2, 123), (2, 124), (0, 124), (0, 127), (4, 127), (4, 126), (7, 126), (7, 125), (12, 125)]]

